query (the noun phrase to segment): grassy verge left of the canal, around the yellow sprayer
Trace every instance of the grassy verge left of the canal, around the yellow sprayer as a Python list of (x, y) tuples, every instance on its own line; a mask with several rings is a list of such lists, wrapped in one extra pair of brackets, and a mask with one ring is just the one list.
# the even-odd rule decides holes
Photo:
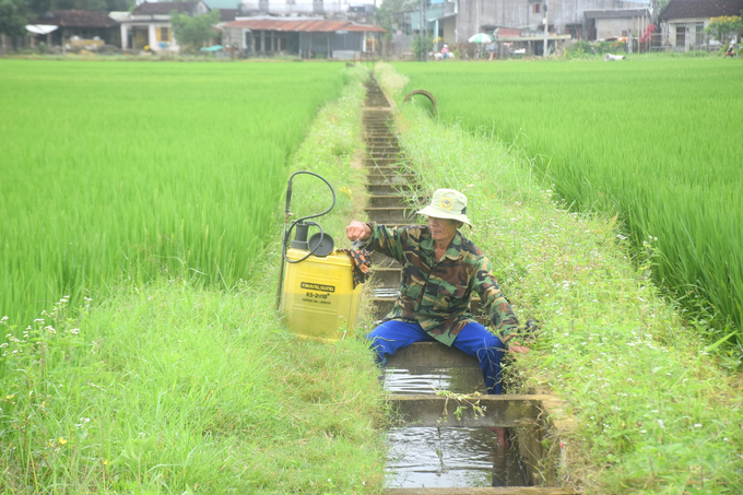
[[(320, 111), (293, 169), (356, 187), (362, 76)], [(343, 197), (323, 223), (335, 237), (354, 214)], [(385, 408), (368, 349), (281, 325), (275, 227), (249, 281), (161, 276), (79, 308), (64, 298), (9, 335), (0, 493), (379, 492)]]

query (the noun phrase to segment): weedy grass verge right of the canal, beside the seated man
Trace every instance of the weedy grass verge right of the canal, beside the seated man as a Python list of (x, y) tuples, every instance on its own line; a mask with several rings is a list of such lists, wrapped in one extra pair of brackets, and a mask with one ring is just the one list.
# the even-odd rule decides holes
[[(404, 78), (377, 74), (398, 102)], [(491, 257), (522, 320), (542, 321), (533, 352), (509, 366), (512, 390), (550, 387), (569, 483), (587, 493), (740, 493), (743, 412), (735, 377), (650, 280), (652, 246), (630, 255), (614, 219), (570, 213), (528, 157), (401, 107), (401, 142), (427, 190), (464, 191), (467, 232)], [(634, 258), (633, 258), (634, 256)]]

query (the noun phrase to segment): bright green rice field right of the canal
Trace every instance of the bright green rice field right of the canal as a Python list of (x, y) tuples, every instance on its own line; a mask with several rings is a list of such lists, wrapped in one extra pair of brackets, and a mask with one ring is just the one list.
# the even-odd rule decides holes
[(732, 325), (743, 342), (743, 63), (394, 67), (444, 121), (516, 143), (573, 208), (617, 214), (640, 269), (650, 255), (697, 323)]

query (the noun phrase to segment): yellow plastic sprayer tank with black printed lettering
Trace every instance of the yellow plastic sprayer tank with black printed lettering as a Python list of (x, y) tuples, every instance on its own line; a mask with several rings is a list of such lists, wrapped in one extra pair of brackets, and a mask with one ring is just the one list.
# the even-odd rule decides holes
[[(287, 249), (286, 258), (296, 261), (307, 252)], [(361, 295), (361, 284), (353, 288), (351, 259), (342, 252), (286, 263), (282, 313), (288, 328), (299, 337), (341, 340), (345, 330), (356, 327)]]

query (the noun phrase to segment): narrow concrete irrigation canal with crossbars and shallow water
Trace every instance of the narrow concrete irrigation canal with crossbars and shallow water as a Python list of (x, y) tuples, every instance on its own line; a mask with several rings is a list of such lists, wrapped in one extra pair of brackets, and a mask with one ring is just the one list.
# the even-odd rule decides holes
[[(366, 213), (386, 225), (409, 225), (416, 222), (411, 200), (423, 195), (415, 175), (405, 172), (389, 101), (374, 79), (366, 87), (363, 165), (368, 168), (370, 196)], [(400, 264), (375, 252), (373, 266), (375, 319), (381, 319), (397, 298)], [(479, 309), (473, 300), (473, 314)], [(436, 342), (413, 344), (390, 357), (385, 387), (397, 406), (396, 427), (388, 434), (386, 494), (576, 493), (559, 483), (563, 445), (550, 421), (550, 412), (559, 406), (553, 396), (476, 397), (473, 401), (484, 406), (484, 416), (476, 417), (468, 399), (447, 400), (436, 391), (484, 393), (477, 361)], [(459, 405), (465, 408), (457, 417)], [(492, 426), (516, 432), (509, 450), (498, 447)]]

